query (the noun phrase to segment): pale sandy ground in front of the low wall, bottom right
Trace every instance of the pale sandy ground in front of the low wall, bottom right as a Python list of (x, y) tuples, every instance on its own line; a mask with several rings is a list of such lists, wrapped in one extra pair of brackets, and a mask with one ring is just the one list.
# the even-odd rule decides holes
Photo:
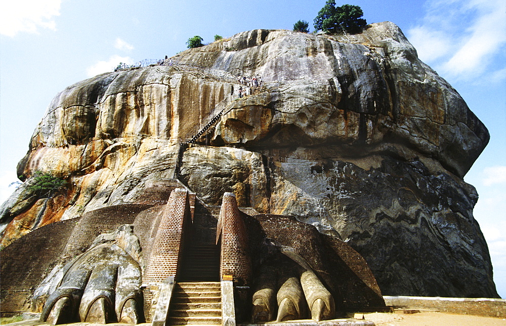
[(394, 313), (365, 313), (365, 320), (373, 321), (376, 326), (461, 326), (461, 325), (506, 325), (506, 319), (495, 317), (481, 317), (471, 315), (457, 315), (452, 313), (421, 311), (405, 314), (404, 311)]

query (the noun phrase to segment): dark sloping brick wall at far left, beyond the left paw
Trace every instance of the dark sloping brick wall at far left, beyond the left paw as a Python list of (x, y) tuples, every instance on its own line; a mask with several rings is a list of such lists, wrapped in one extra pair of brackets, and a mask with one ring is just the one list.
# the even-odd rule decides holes
[(2, 313), (29, 310), (33, 291), (56, 265), (78, 220), (39, 227), (2, 250)]

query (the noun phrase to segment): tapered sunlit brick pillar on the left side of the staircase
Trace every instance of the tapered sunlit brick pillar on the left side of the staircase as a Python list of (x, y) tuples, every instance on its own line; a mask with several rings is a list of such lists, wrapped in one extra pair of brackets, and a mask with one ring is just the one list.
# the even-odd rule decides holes
[(176, 189), (171, 193), (156, 231), (143, 283), (161, 283), (168, 276), (176, 276), (181, 267), (185, 235), (191, 232), (191, 213), (188, 192)]

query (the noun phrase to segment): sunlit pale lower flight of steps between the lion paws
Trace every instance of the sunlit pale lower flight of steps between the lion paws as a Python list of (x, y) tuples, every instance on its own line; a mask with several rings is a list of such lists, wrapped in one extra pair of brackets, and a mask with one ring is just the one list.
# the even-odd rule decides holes
[(167, 324), (221, 324), (220, 282), (177, 283)]

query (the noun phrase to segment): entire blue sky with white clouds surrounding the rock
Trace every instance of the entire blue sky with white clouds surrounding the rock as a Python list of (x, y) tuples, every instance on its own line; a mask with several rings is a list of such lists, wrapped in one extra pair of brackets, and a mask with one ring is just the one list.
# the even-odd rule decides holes
[[(494, 281), (506, 297), (506, 1), (357, 0), (368, 23), (399, 25), (421, 60), (444, 77), (485, 123), (491, 140), (465, 180), (480, 195), (474, 216), (487, 239)], [(1, 0), (0, 200), (58, 91), (119, 62), (173, 56), (257, 29), (310, 23), (325, 0)]]

